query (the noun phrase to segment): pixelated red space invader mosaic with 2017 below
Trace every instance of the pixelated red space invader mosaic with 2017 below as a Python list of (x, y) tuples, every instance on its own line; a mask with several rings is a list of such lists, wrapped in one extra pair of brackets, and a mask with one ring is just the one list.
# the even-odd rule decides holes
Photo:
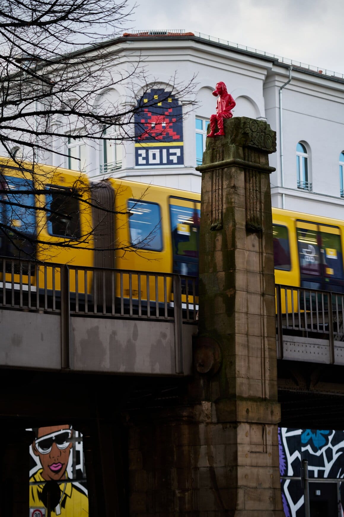
[(182, 107), (163, 88), (151, 89), (138, 101), (135, 114), (135, 165), (176, 166), (183, 159)]

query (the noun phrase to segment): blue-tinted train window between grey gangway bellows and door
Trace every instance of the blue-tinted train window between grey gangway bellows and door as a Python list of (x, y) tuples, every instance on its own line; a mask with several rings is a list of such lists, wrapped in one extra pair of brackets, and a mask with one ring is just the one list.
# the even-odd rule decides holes
[(146, 201), (128, 201), (130, 241), (140, 250), (162, 250), (160, 206)]

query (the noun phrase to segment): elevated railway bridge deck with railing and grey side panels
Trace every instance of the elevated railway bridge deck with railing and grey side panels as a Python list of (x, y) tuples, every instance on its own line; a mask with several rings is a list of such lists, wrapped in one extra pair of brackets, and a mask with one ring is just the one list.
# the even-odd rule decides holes
[[(5, 257), (0, 275), (3, 378), (112, 374), (124, 386), (136, 377), (149, 386), (149, 399), (159, 393), (155, 383), (175, 392), (192, 375), (197, 278)], [(287, 427), (307, 418), (319, 428), (344, 424), (343, 324), (344, 294), (276, 285), (278, 392)]]

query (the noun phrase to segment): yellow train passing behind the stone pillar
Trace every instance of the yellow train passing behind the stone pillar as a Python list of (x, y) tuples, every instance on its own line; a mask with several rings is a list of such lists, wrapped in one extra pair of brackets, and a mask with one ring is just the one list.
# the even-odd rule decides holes
[[(0, 167), (0, 255), (197, 276), (199, 194), (113, 178), (94, 184), (79, 172), (33, 171), (7, 158)], [(344, 222), (277, 208), (272, 214), (276, 283), (343, 292)], [(86, 281), (90, 292), (91, 276)], [(79, 292), (84, 285), (79, 279)]]

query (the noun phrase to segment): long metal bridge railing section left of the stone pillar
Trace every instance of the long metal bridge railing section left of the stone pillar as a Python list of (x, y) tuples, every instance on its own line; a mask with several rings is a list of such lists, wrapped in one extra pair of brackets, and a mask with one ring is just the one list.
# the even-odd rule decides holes
[(0, 307), (196, 322), (197, 278), (0, 257)]

